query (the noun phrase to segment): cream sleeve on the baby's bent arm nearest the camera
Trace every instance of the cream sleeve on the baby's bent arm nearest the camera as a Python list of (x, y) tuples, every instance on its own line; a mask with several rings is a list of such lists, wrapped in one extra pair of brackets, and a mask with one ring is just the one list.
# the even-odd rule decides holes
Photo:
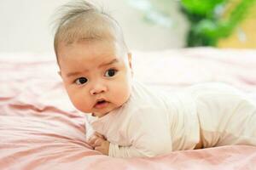
[(152, 157), (170, 153), (172, 139), (167, 114), (157, 108), (137, 109), (127, 127), (130, 146), (110, 144), (109, 156)]

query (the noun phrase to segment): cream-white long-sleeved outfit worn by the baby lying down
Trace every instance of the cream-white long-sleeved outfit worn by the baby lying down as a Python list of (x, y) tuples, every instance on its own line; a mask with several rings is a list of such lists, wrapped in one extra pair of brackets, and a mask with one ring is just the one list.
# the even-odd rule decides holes
[(204, 147), (256, 145), (253, 121), (256, 122), (256, 105), (221, 83), (165, 94), (134, 82), (130, 99), (119, 109), (100, 118), (90, 117), (93, 129), (110, 142), (108, 155), (114, 157), (190, 150), (200, 138)]

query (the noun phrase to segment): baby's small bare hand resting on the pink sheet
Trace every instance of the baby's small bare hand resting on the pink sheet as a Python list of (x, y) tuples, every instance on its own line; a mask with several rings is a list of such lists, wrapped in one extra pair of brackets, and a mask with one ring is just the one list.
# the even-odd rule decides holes
[(100, 151), (102, 154), (108, 156), (109, 142), (102, 134), (94, 133), (88, 142), (94, 150)]

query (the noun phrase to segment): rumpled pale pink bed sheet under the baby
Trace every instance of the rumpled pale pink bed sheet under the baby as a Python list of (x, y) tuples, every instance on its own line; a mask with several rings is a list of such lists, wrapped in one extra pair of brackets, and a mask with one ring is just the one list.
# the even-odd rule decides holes
[[(190, 48), (135, 52), (135, 77), (174, 90), (228, 82), (256, 96), (256, 51)], [(255, 98), (256, 99), (256, 98)], [(174, 151), (119, 159), (91, 150), (86, 117), (67, 99), (53, 55), (0, 54), (0, 169), (256, 169), (256, 147)]]

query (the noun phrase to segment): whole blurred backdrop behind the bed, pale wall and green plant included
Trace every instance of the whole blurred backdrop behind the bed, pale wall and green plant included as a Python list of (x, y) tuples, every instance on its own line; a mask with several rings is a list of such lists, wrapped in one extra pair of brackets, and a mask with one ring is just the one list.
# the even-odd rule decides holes
[[(256, 0), (96, 0), (132, 50), (256, 48)], [(56, 8), (67, 0), (0, 0), (0, 52), (53, 53)]]

